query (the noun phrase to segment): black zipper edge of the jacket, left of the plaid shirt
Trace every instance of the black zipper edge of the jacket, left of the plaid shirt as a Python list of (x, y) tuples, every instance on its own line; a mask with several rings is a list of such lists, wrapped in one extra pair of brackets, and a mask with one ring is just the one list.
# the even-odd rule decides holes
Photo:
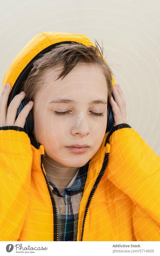
[(56, 206), (56, 200), (53, 196), (52, 188), (50, 187), (50, 183), (49, 183), (49, 181), (47, 179), (47, 176), (46, 176), (46, 174), (44, 173), (44, 170), (43, 170), (43, 166), (42, 166), (43, 158), (44, 158), (44, 155), (42, 154), (41, 155), (41, 170), (43, 172), (44, 178), (45, 178), (46, 183), (47, 183), (47, 188), (48, 188), (48, 191), (50, 193), (50, 198), (51, 198), (52, 207), (53, 207), (53, 241), (58, 241), (58, 216), (57, 216), (58, 211), (57, 211), (57, 206)]

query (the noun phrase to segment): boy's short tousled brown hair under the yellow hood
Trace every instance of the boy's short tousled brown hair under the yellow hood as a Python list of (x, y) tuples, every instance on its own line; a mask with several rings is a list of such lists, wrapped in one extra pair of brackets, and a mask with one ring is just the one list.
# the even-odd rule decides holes
[[(103, 45), (103, 42), (102, 42)], [(42, 55), (34, 61), (33, 67), (22, 84), (22, 90), (26, 92), (28, 100), (35, 99), (36, 93), (41, 89), (44, 80), (44, 72), (49, 68), (60, 67), (61, 73), (55, 79), (62, 79), (74, 68), (76, 64), (94, 64), (104, 72), (107, 81), (108, 100), (112, 92), (112, 71), (103, 57), (103, 48), (95, 40), (95, 46), (83, 45), (78, 42), (62, 43), (55, 46), (50, 52)], [(100, 49), (98, 48), (100, 47)], [(102, 46), (103, 47), (103, 46)], [(61, 79), (61, 80), (62, 80)]]

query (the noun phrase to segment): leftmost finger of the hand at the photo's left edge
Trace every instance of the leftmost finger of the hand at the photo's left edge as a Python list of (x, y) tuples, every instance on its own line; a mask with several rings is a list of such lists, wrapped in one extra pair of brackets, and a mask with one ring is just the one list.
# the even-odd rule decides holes
[(0, 95), (0, 126), (6, 126), (7, 117), (7, 102), (8, 96), (11, 90), (11, 85), (6, 83), (3, 87), (2, 93)]

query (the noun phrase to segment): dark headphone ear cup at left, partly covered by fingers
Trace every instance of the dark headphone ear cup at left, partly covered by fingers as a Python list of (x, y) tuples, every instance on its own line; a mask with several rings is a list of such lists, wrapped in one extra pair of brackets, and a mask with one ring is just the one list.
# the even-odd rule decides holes
[[(28, 102), (29, 102), (29, 100), (27, 100), (26, 98), (24, 98), (21, 101), (20, 106), (17, 109), (16, 119), (17, 119), (18, 115), (20, 114), (20, 112), (22, 111), (22, 109), (24, 108), (24, 106), (26, 106), (26, 104)], [(27, 134), (32, 135), (33, 128), (34, 128), (34, 119), (33, 119), (33, 111), (31, 109), (29, 111), (29, 114), (28, 114), (27, 118), (26, 118), (24, 129), (27, 132)]]

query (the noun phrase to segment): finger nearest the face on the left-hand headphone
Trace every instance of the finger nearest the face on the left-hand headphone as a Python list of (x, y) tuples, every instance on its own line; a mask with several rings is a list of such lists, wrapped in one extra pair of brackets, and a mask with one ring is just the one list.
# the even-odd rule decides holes
[(20, 114), (18, 115), (16, 122), (15, 122), (15, 126), (19, 126), (24, 128), (25, 122), (26, 122), (26, 118), (29, 114), (29, 111), (32, 109), (33, 107), (33, 101), (29, 101), (27, 103), (26, 106), (24, 106), (24, 108), (22, 109), (22, 111), (20, 112)]

